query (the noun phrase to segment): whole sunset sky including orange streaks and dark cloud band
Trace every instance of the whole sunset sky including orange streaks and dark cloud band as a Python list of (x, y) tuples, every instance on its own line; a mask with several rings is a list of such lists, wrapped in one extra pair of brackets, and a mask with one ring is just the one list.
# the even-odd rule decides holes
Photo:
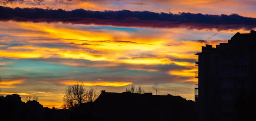
[(77, 80), (194, 100), (194, 53), (256, 28), (256, 0), (0, 0), (2, 94), (60, 108)]

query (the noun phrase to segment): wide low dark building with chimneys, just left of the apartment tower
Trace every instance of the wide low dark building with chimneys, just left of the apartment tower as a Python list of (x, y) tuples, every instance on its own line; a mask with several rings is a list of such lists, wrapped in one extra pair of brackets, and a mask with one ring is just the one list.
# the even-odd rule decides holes
[(82, 104), (89, 121), (196, 121), (195, 102), (152, 93), (108, 93)]

